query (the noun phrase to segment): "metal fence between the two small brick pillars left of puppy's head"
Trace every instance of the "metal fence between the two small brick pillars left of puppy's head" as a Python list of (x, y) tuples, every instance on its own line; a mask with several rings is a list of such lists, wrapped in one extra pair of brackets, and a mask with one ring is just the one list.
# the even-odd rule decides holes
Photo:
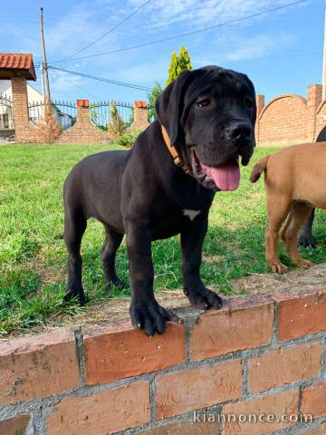
[(97, 125), (101, 130), (108, 130), (108, 125), (112, 121), (114, 111), (120, 117), (126, 127), (133, 122), (133, 106), (129, 102), (92, 102), (91, 103), (91, 122)]

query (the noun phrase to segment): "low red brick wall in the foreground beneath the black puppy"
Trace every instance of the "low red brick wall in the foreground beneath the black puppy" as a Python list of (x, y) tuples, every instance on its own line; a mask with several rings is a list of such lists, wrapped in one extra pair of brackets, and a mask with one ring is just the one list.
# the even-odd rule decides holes
[(151, 339), (123, 321), (0, 343), (0, 434), (325, 434), (325, 313), (308, 285), (179, 310)]

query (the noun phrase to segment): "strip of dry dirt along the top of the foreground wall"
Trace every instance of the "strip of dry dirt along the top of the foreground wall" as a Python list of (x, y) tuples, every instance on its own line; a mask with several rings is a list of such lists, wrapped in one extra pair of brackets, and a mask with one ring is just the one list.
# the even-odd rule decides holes
[[(310, 269), (294, 269), (286, 275), (276, 274), (253, 274), (230, 282), (236, 294), (247, 295), (268, 294), (284, 291), (294, 292), (300, 285), (326, 284), (326, 263), (313, 266)], [(157, 295), (159, 304), (169, 310), (188, 307), (187, 297), (182, 290), (161, 291)], [(92, 305), (87, 312), (66, 316), (62, 318), (61, 326), (79, 326), (82, 324), (97, 324), (103, 322), (117, 322), (129, 318), (129, 297), (115, 298)], [(43, 333), (52, 330), (53, 324), (37, 327), (29, 333)], [(56, 325), (57, 327), (57, 325)]]

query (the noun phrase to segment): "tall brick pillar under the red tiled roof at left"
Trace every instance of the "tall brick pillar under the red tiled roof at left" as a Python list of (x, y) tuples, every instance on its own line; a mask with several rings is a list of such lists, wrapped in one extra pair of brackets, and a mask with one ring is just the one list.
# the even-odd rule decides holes
[(28, 116), (27, 85), (24, 77), (12, 77), (13, 105), (14, 105), (14, 131), (17, 142), (28, 140), (31, 130)]

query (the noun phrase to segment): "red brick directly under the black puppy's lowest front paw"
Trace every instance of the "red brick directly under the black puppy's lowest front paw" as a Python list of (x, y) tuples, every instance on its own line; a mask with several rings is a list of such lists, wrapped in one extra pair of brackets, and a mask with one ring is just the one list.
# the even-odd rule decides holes
[(129, 321), (91, 327), (84, 333), (88, 385), (155, 372), (185, 361), (185, 328), (168, 324), (166, 333), (148, 338)]

